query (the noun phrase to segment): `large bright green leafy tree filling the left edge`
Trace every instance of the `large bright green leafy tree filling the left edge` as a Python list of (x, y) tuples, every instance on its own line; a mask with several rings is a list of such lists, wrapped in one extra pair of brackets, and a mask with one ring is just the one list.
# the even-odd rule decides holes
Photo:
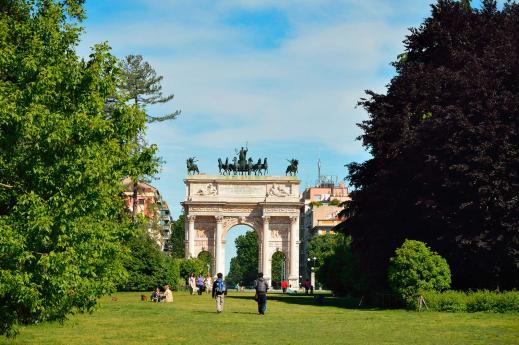
[(74, 51), (82, 3), (0, 2), (1, 334), (115, 290), (137, 231), (120, 180), (157, 171), (156, 147), (135, 150), (145, 113), (106, 102), (118, 78), (109, 47)]

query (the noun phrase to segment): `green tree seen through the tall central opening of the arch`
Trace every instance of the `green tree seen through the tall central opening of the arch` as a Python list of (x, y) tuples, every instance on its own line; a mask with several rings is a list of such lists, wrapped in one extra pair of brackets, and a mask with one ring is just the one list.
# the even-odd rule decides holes
[(231, 259), (231, 267), (226, 280), (229, 284), (252, 285), (258, 277), (258, 235), (249, 231), (235, 240), (236, 256)]

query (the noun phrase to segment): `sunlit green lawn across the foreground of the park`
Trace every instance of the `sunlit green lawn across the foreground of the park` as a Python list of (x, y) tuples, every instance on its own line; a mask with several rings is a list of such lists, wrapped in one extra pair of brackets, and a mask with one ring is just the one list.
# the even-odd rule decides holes
[(175, 293), (169, 304), (115, 296), (93, 314), (23, 327), (0, 344), (519, 344), (519, 314), (349, 309), (338, 298), (316, 305), (272, 294), (260, 316), (250, 293), (230, 293), (222, 314), (207, 295)]

